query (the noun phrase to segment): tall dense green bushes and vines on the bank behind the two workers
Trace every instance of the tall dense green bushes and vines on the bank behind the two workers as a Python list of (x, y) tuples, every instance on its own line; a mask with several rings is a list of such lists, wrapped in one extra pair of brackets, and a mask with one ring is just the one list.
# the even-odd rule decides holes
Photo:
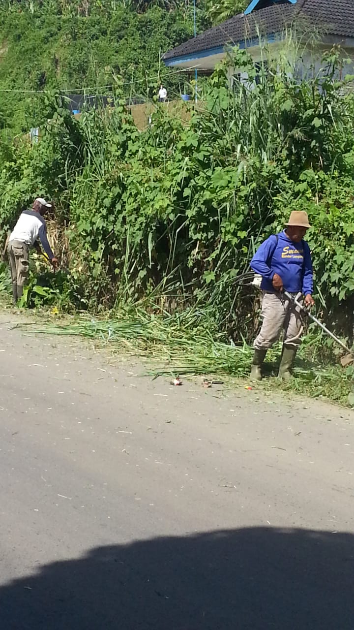
[(190, 106), (190, 122), (161, 106), (142, 133), (118, 96), (80, 120), (59, 97), (47, 102), (37, 145), (1, 147), (2, 226), (49, 195), (67, 226), (79, 304), (147, 294), (171, 308), (210, 304), (219, 326), (241, 338), (253, 331), (254, 297), (235, 279), (261, 240), (305, 209), (324, 315), (351, 326), (354, 110), (335, 80), (340, 61), (329, 55), (302, 83), (287, 63), (253, 81), (246, 53), (231, 61), (248, 83), (229, 88), (224, 65)]

